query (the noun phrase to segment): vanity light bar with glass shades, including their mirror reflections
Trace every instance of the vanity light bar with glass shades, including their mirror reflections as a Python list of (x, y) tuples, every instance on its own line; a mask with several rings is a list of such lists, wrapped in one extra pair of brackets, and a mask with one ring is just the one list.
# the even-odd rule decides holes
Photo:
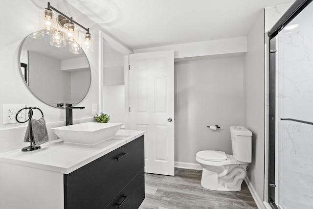
[[(53, 12), (57, 12), (59, 15), (55, 17)], [(78, 42), (78, 26), (87, 31), (81, 44)], [(85, 51), (93, 51), (93, 36), (90, 35), (89, 28), (75, 22), (72, 17), (68, 17), (57, 10), (50, 5), (50, 2), (48, 2), (47, 8), (40, 12), (39, 31), (34, 32), (30, 37), (43, 38), (44, 34), (50, 35), (50, 45), (52, 46), (64, 47), (68, 44), (71, 53), (80, 54), (82, 53), (81, 48)]]

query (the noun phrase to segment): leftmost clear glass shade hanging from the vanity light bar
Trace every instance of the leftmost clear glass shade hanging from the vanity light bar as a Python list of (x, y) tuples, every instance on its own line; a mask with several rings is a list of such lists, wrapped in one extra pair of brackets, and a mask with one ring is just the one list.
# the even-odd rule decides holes
[(53, 34), (54, 28), (57, 27), (57, 21), (53, 17), (52, 10), (44, 9), (40, 11), (39, 15), (39, 31), (45, 34)]

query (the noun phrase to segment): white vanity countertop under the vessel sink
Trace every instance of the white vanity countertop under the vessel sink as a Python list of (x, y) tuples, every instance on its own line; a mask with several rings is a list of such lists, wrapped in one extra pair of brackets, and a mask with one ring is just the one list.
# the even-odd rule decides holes
[[(65, 143), (61, 139), (57, 139), (41, 144), (39, 150), (22, 152), (19, 149), (2, 153), (0, 162), (69, 174), (144, 133), (144, 131), (120, 129), (112, 139), (95, 145)], [(25, 146), (27, 145), (25, 143)]]

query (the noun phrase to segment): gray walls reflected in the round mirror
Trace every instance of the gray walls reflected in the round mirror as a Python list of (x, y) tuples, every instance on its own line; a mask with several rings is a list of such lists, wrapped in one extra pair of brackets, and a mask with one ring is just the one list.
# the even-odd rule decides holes
[[(45, 103), (77, 104), (87, 94), (90, 85), (89, 65), (84, 68), (86, 64), (84, 66), (76, 62), (78, 69), (61, 70), (63, 61), (33, 51), (28, 51), (28, 61), (29, 88)], [(85, 57), (83, 61), (88, 64)]]

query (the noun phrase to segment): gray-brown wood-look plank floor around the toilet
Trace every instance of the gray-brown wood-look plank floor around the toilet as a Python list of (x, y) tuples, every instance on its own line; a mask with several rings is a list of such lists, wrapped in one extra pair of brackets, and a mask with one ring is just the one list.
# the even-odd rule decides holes
[(145, 174), (146, 197), (139, 209), (257, 209), (245, 181), (239, 192), (203, 188), (201, 170), (175, 168), (175, 176)]

